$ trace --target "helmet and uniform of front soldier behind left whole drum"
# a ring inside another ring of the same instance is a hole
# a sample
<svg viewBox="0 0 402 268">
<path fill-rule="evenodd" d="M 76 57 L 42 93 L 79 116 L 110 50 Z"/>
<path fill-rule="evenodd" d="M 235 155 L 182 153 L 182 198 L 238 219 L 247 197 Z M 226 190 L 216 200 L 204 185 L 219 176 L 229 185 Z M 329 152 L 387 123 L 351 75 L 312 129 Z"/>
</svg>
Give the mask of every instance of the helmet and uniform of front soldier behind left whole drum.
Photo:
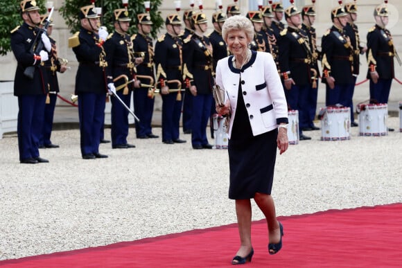
<svg viewBox="0 0 402 268">
<path fill-rule="evenodd" d="M 347 14 L 343 7 L 339 7 L 333 9 L 332 15 L 342 17 Z M 330 76 L 335 79 L 333 89 L 326 82 Z M 322 82 L 326 84 L 326 106 L 351 106 L 350 96 L 354 84 L 353 46 L 344 30 L 335 26 L 322 37 Z"/>
</svg>

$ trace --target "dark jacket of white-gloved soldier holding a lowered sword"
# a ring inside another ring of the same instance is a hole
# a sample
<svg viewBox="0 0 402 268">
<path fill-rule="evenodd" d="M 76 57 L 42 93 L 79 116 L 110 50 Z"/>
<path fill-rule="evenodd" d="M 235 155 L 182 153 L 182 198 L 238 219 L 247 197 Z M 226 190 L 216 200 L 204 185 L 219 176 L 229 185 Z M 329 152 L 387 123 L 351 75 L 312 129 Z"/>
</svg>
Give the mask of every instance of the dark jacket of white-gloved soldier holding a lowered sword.
<svg viewBox="0 0 402 268">
<path fill-rule="evenodd" d="M 76 94 L 81 92 L 106 93 L 105 51 L 98 43 L 98 35 L 81 28 L 79 44 L 73 47 L 80 65 L 76 75 Z"/>
</svg>

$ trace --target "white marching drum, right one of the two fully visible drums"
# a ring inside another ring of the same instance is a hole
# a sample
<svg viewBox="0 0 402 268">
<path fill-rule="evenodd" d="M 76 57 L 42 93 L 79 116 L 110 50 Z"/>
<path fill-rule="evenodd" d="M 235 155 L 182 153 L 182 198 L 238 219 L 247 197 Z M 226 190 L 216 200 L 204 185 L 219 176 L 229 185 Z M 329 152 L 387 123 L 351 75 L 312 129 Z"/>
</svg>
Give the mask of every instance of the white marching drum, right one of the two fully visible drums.
<svg viewBox="0 0 402 268">
<path fill-rule="evenodd" d="M 388 107 L 385 103 L 360 104 L 357 107 L 359 114 L 360 136 L 385 136 L 388 134 L 387 117 Z"/>
</svg>

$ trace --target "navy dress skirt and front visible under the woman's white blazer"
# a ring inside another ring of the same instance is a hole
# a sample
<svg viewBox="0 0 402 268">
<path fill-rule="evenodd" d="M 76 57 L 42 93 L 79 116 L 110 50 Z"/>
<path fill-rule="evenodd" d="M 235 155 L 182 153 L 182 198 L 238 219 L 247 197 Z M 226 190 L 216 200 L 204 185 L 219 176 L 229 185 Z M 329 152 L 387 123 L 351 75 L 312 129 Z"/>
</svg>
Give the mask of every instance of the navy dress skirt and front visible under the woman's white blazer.
<svg viewBox="0 0 402 268">
<path fill-rule="evenodd" d="M 240 92 L 228 146 L 229 199 L 251 199 L 255 193 L 270 195 L 277 159 L 278 129 L 253 136 Z"/>
</svg>

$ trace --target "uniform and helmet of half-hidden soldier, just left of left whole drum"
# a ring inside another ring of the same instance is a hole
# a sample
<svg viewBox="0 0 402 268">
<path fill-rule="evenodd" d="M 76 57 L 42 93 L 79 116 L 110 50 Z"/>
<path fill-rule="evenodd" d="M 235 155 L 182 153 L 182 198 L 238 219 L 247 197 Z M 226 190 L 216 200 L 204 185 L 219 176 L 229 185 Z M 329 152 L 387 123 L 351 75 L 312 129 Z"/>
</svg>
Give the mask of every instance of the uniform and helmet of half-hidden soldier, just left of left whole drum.
<svg viewBox="0 0 402 268">
<path fill-rule="evenodd" d="M 302 17 L 315 16 L 314 6 L 305 6 L 302 10 Z M 313 26 L 307 26 L 302 24 L 302 30 L 307 34 L 308 45 L 311 50 L 311 87 L 307 94 L 307 110 L 308 113 L 308 129 L 317 130 L 313 121 L 315 119 L 315 112 L 317 111 L 317 96 L 318 96 L 318 83 L 317 80 L 320 77 L 320 69 L 318 69 L 318 58 L 320 57 L 320 51 L 317 49 L 317 34 Z"/>
</svg>

